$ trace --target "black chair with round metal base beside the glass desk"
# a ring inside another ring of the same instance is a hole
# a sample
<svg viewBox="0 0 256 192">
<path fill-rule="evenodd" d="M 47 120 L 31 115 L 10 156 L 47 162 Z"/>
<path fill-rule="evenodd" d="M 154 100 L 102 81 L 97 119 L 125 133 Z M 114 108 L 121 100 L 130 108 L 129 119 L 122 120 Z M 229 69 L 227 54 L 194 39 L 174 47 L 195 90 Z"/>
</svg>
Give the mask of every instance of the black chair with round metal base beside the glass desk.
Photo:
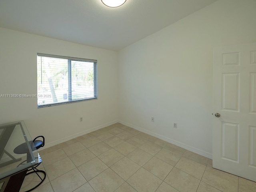
<svg viewBox="0 0 256 192">
<path fill-rule="evenodd" d="M 43 140 L 36 140 L 37 138 L 39 137 L 42 137 Z M 34 143 L 34 146 L 32 146 L 32 143 Z M 32 148 L 32 151 L 36 150 L 36 149 L 39 149 L 41 147 L 44 146 L 44 136 L 38 136 L 36 138 L 34 138 L 33 141 L 29 141 L 29 144 Z M 26 164 L 27 162 L 31 162 L 32 159 L 31 159 L 31 156 L 30 156 L 30 152 L 28 150 L 28 147 L 27 147 L 27 144 L 26 143 L 22 143 L 20 144 L 19 146 L 17 146 L 14 150 L 13 150 L 14 153 L 16 154 L 27 154 L 27 159 L 24 160 L 23 162 L 21 162 L 18 166 L 22 165 L 22 164 Z M 36 185 L 34 188 L 30 189 L 30 190 L 27 190 L 26 192 L 30 192 L 32 190 L 34 190 L 35 188 L 37 188 L 38 186 L 40 186 L 40 184 L 42 184 L 42 182 L 44 182 L 45 178 L 46 178 L 46 172 L 45 171 L 42 171 L 42 170 L 38 170 L 37 167 L 41 164 L 41 162 L 39 162 L 38 164 L 36 164 L 35 166 L 31 167 L 30 169 L 28 169 L 28 172 L 26 175 L 29 175 L 29 174 L 32 174 L 32 173 L 36 173 L 37 176 L 40 178 L 41 182 Z M 17 167 L 18 167 L 17 166 Z M 44 174 L 44 178 L 42 178 L 38 172 L 41 172 Z"/>
</svg>

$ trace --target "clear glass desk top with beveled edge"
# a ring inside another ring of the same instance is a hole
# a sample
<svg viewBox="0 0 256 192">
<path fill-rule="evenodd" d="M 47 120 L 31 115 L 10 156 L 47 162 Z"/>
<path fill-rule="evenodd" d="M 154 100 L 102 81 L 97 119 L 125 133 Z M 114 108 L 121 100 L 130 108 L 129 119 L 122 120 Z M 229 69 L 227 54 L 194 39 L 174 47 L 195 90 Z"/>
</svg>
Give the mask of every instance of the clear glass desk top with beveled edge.
<svg viewBox="0 0 256 192">
<path fill-rule="evenodd" d="M 0 180 L 41 161 L 24 121 L 0 125 Z"/>
</svg>

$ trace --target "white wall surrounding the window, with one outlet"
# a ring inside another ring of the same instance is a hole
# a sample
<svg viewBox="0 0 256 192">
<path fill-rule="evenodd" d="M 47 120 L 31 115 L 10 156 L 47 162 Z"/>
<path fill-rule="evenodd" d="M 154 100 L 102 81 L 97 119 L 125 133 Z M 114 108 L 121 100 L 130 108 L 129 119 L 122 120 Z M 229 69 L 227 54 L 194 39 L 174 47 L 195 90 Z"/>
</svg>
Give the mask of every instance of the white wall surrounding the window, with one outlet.
<svg viewBox="0 0 256 192">
<path fill-rule="evenodd" d="M 118 119 L 117 52 L 0 28 L 0 94 L 37 93 L 37 53 L 98 60 L 98 99 L 37 108 L 37 98 L 1 98 L 0 124 L 24 120 L 46 147 Z M 83 122 L 80 122 L 83 117 Z"/>
</svg>

